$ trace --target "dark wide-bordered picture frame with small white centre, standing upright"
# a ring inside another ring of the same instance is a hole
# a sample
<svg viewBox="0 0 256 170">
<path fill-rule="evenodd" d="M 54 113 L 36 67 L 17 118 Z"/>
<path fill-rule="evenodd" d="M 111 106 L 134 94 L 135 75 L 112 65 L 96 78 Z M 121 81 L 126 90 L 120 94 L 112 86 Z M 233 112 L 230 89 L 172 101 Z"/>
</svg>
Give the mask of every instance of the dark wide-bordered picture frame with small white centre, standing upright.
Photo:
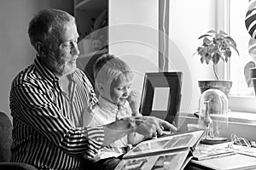
<svg viewBox="0 0 256 170">
<path fill-rule="evenodd" d="M 175 119 L 180 107 L 181 71 L 146 72 L 140 112 L 143 116 L 156 116 L 170 123 Z"/>
</svg>

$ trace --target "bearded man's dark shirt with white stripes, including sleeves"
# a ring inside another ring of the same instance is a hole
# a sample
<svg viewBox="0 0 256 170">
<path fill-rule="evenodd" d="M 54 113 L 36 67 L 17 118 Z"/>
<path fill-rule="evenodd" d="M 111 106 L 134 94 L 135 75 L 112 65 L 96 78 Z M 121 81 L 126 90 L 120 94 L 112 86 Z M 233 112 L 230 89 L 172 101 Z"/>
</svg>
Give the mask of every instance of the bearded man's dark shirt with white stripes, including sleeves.
<svg viewBox="0 0 256 170">
<path fill-rule="evenodd" d="M 15 77 L 10 91 L 13 116 L 11 161 L 38 169 L 78 169 L 82 157 L 93 158 L 102 146 L 102 127 L 82 127 L 83 111 L 97 102 L 83 71 L 69 77 L 70 95 L 38 58 Z"/>
</svg>

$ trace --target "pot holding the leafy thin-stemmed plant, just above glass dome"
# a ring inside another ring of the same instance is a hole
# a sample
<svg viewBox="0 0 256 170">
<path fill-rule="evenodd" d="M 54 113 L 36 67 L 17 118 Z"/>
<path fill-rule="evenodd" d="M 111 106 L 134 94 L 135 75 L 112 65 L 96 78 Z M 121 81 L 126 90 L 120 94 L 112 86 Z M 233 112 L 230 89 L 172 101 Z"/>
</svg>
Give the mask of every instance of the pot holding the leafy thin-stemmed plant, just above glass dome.
<svg viewBox="0 0 256 170">
<path fill-rule="evenodd" d="M 224 92 L 227 98 L 229 98 L 232 82 L 230 81 L 198 81 L 198 86 L 201 89 L 201 94 L 207 89 L 215 88 Z"/>
</svg>

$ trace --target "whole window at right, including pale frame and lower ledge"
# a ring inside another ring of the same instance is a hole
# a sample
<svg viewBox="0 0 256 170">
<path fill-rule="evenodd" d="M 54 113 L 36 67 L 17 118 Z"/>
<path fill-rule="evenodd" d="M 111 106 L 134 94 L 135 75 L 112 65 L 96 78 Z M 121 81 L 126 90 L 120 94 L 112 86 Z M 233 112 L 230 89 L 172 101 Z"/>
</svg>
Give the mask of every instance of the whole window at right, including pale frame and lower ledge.
<svg viewBox="0 0 256 170">
<path fill-rule="evenodd" d="M 224 20 L 225 31 L 229 32 L 230 37 L 235 39 L 240 53 L 238 56 L 234 51 L 230 58 L 230 65 L 224 69 L 226 77 L 229 77 L 230 81 L 233 82 L 230 90 L 230 109 L 231 111 L 256 112 L 254 89 L 248 87 L 244 76 L 244 66 L 253 60 L 247 52 L 250 35 L 245 26 L 249 1 L 226 0 L 225 2 L 224 15 L 228 16 L 226 17 L 227 20 Z"/>
</svg>

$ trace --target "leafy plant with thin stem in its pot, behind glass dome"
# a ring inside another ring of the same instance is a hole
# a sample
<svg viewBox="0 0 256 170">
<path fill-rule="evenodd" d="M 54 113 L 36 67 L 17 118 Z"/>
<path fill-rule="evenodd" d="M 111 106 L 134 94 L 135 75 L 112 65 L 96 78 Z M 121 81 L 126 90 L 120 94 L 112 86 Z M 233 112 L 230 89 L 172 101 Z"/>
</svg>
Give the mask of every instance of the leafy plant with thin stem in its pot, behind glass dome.
<svg viewBox="0 0 256 170">
<path fill-rule="evenodd" d="M 198 81 L 198 85 L 201 88 L 201 93 L 209 88 L 217 88 L 222 90 L 228 97 L 230 94 L 230 88 L 232 87 L 232 82 L 220 81 L 218 79 L 216 66 L 219 60 L 228 62 L 232 54 L 231 48 L 235 49 L 236 53 L 239 55 L 236 48 L 236 42 L 224 31 L 214 30 L 207 31 L 206 34 L 202 35 L 198 39 L 202 39 L 203 43 L 196 49 L 195 54 L 201 56 L 202 64 L 206 62 L 208 65 L 212 61 L 212 69 L 217 79 L 217 81 Z"/>
</svg>

